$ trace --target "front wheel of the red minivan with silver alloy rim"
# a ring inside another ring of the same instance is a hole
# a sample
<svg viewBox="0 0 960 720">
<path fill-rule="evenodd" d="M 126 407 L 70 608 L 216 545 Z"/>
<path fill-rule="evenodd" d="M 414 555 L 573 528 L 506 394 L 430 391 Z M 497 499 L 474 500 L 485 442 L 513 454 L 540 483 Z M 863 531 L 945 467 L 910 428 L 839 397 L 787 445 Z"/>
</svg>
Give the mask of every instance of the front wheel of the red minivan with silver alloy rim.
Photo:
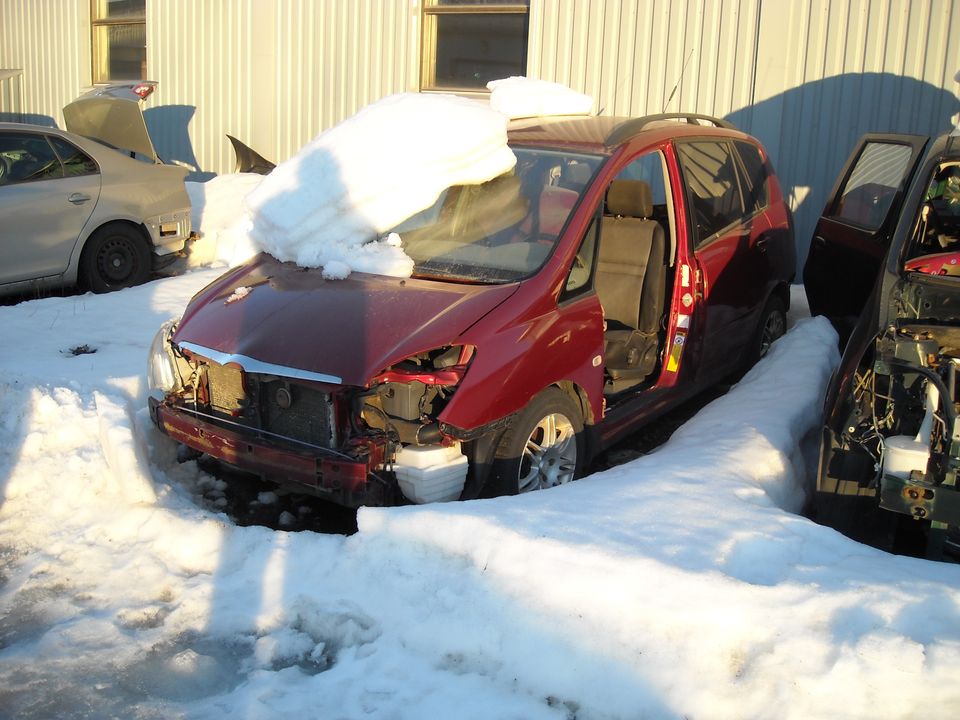
<svg viewBox="0 0 960 720">
<path fill-rule="evenodd" d="M 514 418 L 497 444 L 488 487 L 517 495 L 576 480 L 584 464 L 583 420 L 569 395 L 551 387 Z"/>
</svg>

